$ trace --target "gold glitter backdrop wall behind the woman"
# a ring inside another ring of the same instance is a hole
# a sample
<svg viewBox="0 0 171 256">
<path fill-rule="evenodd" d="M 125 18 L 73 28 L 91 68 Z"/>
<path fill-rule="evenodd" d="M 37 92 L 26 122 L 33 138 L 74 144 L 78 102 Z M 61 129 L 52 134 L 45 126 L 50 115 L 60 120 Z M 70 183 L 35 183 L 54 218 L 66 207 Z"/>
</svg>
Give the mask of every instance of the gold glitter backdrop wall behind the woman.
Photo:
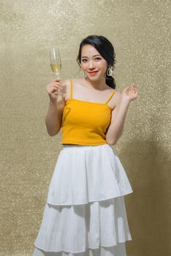
<svg viewBox="0 0 171 256">
<path fill-rule="evenodd" d="M 34 250 L 61 134 L 45 129 L 48 50 L 58 46 L 61 78 L 82 77 L 80 40 L 104 35 L 116 53 L 122 91 L 137 83 L 115 151 L 134 193 L 125 197 L 132 241 L 128 256 L 170 252 L 170 1 L 0 1 L 1 208 L 0 255 Z"/>
</svg>

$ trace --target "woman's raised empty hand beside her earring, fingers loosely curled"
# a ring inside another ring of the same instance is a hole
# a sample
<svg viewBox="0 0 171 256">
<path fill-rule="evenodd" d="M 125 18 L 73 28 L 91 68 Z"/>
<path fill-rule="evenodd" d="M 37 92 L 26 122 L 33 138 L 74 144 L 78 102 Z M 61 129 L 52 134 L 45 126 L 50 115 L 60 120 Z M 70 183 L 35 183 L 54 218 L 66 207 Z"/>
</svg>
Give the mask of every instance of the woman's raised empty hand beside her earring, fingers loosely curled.
<svg viewBox="0 0 171 256">
<path fill-rule="evenodd" d="M 137 86 L 132 83 L 132 86 L 127 86 L 123 89 L 122 93 L 122 100 L 131 102 L 134 99 L 137 99 Z"/>
</svg>

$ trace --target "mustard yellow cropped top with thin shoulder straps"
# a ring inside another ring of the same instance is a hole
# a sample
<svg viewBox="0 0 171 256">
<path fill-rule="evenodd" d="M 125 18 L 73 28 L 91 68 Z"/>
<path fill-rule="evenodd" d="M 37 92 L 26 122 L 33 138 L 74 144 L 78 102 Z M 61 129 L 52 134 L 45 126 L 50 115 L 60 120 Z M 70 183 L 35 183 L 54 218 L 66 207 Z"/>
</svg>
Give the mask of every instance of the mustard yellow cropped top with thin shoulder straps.
<svg viewBox="0 0 171 256">
<path fill-rule="evenodd" d="M 110 125 L 112 109 L 105 103 L 72 99 L 72 79 L 70 79 L 70 99 L 66 100 L 61 124 L 61 144 L 102 145 L 107 144 L 106 132 Z"/>
</svg>

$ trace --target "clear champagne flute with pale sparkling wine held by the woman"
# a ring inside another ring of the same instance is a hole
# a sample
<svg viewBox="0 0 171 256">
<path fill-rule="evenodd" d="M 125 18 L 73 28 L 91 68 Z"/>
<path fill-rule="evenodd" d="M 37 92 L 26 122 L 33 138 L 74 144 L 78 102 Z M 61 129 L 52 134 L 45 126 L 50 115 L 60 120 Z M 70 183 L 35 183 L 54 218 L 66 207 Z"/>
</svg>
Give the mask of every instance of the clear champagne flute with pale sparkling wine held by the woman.
<svg viewBox="0 0 171 256">
<path fill-rule="evenodd" d="M 50 48 L 50 67 L 55 73 L 56 78 L 59 78 L 59 72 L 61 70 L 61 56 L 58 48 Z M 63 90 L 58 89 L 55 94 L 64 94 Z"/>
</svg>

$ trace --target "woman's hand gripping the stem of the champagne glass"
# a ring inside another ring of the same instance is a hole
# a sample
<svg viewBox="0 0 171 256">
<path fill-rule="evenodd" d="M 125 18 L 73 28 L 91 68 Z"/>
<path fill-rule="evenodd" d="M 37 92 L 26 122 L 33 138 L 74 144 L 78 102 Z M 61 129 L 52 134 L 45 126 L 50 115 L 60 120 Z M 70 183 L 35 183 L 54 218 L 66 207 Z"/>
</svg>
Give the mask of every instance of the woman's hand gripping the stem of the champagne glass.
<svg viewBox="0 0 171 256">
<path fill-rule="evenodd" d="M 51 101 L 55 102 L 58 99 L 58 93 L 57 93 L 58 89 L 60 90 L 63 89 L 60 83 L 60 78 L 56 78 L 47 84 L 46 90 Z"/>
</svg>

